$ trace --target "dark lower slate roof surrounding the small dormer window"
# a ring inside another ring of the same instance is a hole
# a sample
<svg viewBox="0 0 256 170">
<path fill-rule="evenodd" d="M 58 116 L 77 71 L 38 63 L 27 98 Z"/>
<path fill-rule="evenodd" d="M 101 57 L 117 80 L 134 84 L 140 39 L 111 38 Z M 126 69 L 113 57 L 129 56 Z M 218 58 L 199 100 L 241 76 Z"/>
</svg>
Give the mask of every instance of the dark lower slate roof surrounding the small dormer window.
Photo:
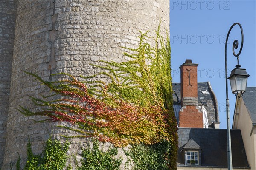
<svg viewBox="0 0 256 170">
<path fill-rule="evenodd" d="M 227 167 L 227 130 L 179 128 L 178 135 L 177 166 L 185 166 L 182 150 L 189 139 L 193 139 L 201 148 L 201 165 L 198 167 Z M 233 168 L 249 169 L 240 130 L 231 130 L 231 146 Z"/>
</svg>

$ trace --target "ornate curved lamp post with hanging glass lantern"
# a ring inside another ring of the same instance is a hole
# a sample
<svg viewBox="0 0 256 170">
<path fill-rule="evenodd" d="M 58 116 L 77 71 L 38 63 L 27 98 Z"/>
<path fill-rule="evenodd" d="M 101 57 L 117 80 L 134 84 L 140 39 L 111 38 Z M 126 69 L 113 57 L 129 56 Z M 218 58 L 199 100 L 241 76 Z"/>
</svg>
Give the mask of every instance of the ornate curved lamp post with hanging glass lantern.
<svg viewBox="0 0 256 170">
<path fill-rule="evenodd" d="M 238 48 L 238 40 L 235 40 L 233 42 L 233 55 L 237 57 L 237 65 L 236 68 L 234 68 L 231 71 L 230 77 L 227 78 L 227 40 L 230 34 L 231 29 L 235 25 L 239 25 L 241 29 L 241 34 L 242 34 L 242 42 L 241 42 L 241 48 L 238 52 L 238 54 L 235 54 L 235 49 Z M 234 23 L 228 33 L 227 33 L 227 38 L 226 38 L 226 44 L 225 44 L 225 74 L 226 74 L 226 111 L 227 111 L 227 165 L 228 165 L 228 170 L 232 170 L 232 153 L 231 153 L 231 138 L 230 138 L 230 111 L 229 111 L 229 99 L 228 99 L 228 88 L 227 88 L 227 79 L 230 79 L 230 85 L 231 85 L 231 90 L 232 93 L 235 94 L 236 97 L 240 98 L 243 96 L 246 85 L 247 85 L 247 78 L 250 76 L 247 74 L 245 69 L 241 68 L 241 65 L 239 65 L 239 55 L 242 51 L 244 44 L 244 33 L 243 33 L 243 28 L 240 23 Z"/>
</svg>

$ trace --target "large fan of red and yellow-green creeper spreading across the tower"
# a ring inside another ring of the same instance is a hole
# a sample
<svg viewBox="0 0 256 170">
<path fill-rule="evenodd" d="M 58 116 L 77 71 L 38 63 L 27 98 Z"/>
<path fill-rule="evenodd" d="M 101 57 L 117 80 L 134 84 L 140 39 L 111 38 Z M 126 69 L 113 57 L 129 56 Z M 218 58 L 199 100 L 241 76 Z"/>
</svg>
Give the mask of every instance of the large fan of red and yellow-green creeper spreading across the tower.
<svg viewBox="0 0 256 170">
<path fill-rule="evenodd" d="M 30 97 L 41 111 L 20 107 L 20 113 L 49 118 L 39 122 L 70 122 L 76 128 L 64 128 L 79 134 L 65 137 L 93 137 L 116 147 L 168 142 L 171 149 L 167 156 L 168 166 L 175 169 L 177 124 L 172 108 L 170 41 L 160 35 L 160 25 L 155 34 L 149 37 L 148 32 L 140 32 L 137 48 L 122 47 L 131 51 L 123 54 L 127 61 L 101 60 L 99 65 L 93 66 L 102 72 L 80 76 L 80 80 L 60 73 L 52 76 L 64 76 L 64 79 L 46 81 L 25 71 L 50 88 L 53 94 Z M 153 42 L 153 46 L 148 41 Z M 99 75 L 108 77 L 110 82 L 97 79 Z M 91 81 L 92 78 L 95 80 Z"/>
</svg>

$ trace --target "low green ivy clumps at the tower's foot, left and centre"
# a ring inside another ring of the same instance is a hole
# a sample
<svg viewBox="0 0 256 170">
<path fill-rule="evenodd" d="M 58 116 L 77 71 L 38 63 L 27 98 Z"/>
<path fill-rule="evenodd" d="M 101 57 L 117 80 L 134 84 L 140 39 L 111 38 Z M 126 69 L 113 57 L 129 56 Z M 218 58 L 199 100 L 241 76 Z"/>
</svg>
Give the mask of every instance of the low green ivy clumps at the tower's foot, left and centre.
<svg viewBox="0 0 256 170">
<path fill-rule="evenodd" d="M 56 139 L 49 138 L 46 142 L 44 151 L 35 155 L 31 149 L 31 142 L 27 144 L 27 161 L 23 170 L 64 170 L 67 164 L 67 155 L 69 143 L 61 144 Z M 81 166 L 73 155 L 75 167 L 77 170 L 119 170 L 122 162 L 121 158 L 116 158 L 117 148 L 109 147 L 106 152 L 99 149 L 99 141 L 93 140 L 92 149 L 87 147 L 82 151 L 80 160 Z M 20 170 L 20 155 L 16 163 L 16 170 Z M 65 168 L 72 170 L 71 164 Z"/>
</svg>

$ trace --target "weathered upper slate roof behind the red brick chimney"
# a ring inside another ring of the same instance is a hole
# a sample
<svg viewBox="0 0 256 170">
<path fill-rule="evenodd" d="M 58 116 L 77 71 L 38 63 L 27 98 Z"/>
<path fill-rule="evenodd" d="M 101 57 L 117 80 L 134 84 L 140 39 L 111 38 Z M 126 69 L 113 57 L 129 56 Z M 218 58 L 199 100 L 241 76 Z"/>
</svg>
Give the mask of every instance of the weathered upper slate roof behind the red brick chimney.
<svg viewBox="0 0 256 170">
<path fill-rule="evenodd" d="M 173 105 L 180 105 L 180 83 L 172 83 L 172 90 Z M 213 127 L 213 122 L 219 122 L 219 116 L 217 98 L 212 91 L 210 82 L 198 82 L 198 105 L 202 105 L 202 102 L 207 102 L 205 108 L 207 110 L 209 127 Z"/>
</svg>

